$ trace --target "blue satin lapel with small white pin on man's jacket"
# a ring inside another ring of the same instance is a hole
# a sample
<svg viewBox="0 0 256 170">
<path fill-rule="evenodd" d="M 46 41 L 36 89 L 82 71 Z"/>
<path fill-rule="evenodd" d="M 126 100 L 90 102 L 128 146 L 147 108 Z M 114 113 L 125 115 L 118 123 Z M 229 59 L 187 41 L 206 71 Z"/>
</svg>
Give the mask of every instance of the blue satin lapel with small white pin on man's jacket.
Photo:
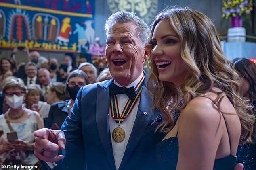
<svg viewBox="0 0 256 170">
<path fill-rule="evenodd" d="M 132 154 L 134 148 L 136 147 L 138 142 L 141 140 L 141 137 L 145 132 L 145 129 L 151 119 L 151 115 L 152 115 L 152 112 L 150 110 L 151 102 L 149 102 L 149 95 L 148 95 L 147 87 L 145 86 L 147 84 L 147 80 L 146 81 L 145 80 L 144 80 L 144 86 L 141 92 L 141 99 L 138 107 L 138 112 L 132 128 L 132 133 L 130 135 L 128 144 L 126 146 L 124 157 L 120 164 L 119 170 L 122 169 L 122 167 L 128 160 L 129 156 Z M 147 112 L 147 115 L 144 115 L 143 114 L 144 112 Z"/>
</svg>

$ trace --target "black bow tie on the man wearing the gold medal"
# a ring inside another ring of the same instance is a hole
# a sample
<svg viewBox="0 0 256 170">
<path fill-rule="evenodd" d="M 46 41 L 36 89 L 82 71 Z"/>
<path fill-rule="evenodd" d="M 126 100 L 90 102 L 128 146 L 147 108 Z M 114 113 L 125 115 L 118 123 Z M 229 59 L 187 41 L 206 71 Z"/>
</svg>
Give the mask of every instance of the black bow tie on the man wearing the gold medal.
<svg viewBox="0 0 256 170">
<path fill-rule="evenodd" d="M 115 96 L 116 94 L 126 94 L 128 98 L 131 100 L 135 99 L 136 92 L 134 87 L 126 88 L 126 87 L 119 87 L 115 85 L 115 83 L 111 82 L 109 85 L 109 96 Z"/>
</svg>

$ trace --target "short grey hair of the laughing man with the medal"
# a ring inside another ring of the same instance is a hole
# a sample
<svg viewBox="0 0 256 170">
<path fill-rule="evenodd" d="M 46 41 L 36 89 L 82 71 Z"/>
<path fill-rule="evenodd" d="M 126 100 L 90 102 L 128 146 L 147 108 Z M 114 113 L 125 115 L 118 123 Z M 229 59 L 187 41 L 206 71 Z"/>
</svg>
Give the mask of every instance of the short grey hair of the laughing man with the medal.
<svg viewBox="0 0 256 170">
<path fill-rule="evenodd" d="M 109 29 L 115 24 L 115 23 L 134 23 L 136 25 L 136 30 L 139 39 L 141 40 L 141 44 L 143 46 L 147 45 L 149 42 L 149 26 L 138 16 L 136 16 L 132 12 L 126 12 L 126 11 L 119 11 L 115 12 L 106 21 L 105 24 L 105 31 L 106 35 L 108 36 Z"/>
</svg>

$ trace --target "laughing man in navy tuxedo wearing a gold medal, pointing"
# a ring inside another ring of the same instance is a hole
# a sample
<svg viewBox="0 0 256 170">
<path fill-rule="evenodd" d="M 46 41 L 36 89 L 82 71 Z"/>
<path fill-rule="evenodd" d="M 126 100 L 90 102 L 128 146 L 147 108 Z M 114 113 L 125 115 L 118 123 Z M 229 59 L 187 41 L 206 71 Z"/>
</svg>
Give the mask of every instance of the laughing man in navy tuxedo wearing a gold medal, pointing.
<svg viewBox="0 0 256 170">
<path fill-rule="evenodd" d="M 60 160 L 58 166 L 48 165 L 61 170 L 84 170 L 85 160 L 88 170 L 159 169 L 155 147 L 163 134 L 155 133 L 155 128 L 161 119 L 157 110 L 151 110 L 143 72 L 149 28 L 134 14 L 117 12 L 109 17 L 105 30 L 113 79 L 80 88 L 61 127 L 65 137 L 62 131 L 37 131 L 35 155 L 46 162 Z"/>
</svg>

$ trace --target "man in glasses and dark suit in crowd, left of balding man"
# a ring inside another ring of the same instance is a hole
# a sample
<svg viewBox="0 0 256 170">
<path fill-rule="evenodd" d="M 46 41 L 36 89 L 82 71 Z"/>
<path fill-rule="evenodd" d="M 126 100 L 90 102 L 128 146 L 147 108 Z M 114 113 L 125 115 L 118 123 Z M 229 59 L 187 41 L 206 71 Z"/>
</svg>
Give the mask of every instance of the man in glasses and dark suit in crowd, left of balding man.
<svg viewBox="0 0 256 170">
<path fill-rule="evenodd" d="M 25 85 L 40 84 L 40 81 L 37 77 L 37 68 L 36 68 L 35 63 L 28 62 L 25 65 L 25 74 L 26 74 L 26 77 L 23 78 L 23 81 L 24 81 Z"/>
</svg>

